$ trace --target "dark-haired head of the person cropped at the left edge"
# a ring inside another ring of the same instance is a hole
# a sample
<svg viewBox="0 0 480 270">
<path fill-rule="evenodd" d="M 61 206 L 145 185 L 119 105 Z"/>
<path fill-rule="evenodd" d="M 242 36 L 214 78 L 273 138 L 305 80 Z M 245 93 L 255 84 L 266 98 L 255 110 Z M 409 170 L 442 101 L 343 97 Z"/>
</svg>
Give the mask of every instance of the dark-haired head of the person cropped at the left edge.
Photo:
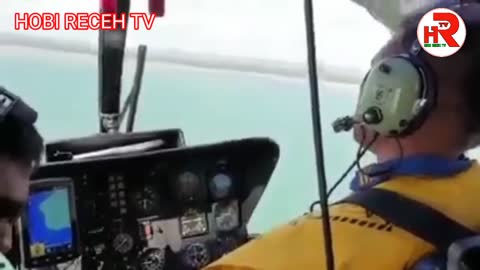
<svg viewBox="0 0 480 270">
<path fill-rule="evenodd" d="M 29 179 L 43 152 L 32 124 L 7 116 L 0 121 L 0 252 L 12 243 L 12 226 L 28 198 Z"/>
</svg>

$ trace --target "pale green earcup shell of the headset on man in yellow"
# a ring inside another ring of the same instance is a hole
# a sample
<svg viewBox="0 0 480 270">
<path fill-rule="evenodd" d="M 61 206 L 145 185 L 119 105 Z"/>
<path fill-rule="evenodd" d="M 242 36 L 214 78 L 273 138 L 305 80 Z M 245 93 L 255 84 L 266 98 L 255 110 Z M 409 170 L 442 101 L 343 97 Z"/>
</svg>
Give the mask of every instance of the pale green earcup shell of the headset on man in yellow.
<svg viewBox="0 0 480 270">
<path fill-rule="evenodd" d="M 376 63 L 360 89 L 355 118 L 385 136 L 404 134 L 426 106 L 425 80 L 407 57 Z"/>
</svg>

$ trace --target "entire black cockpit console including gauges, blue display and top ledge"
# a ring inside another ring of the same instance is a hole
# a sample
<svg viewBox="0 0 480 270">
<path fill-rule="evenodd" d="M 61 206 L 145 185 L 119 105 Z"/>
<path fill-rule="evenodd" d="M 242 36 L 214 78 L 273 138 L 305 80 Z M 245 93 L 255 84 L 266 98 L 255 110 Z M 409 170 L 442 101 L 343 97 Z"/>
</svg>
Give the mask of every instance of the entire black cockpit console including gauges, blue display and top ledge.
<svg viewBox="0 0 480 270">
<path fill-rule="evenodd" d="M 248 241 L 246 224 L 278 158 L 274 142 L 184 146 L 178 130 L 128 135 L 48 145 L 47 153 L 75 154 L 33 178 L 21 219 L 25 267 L 200 269 Z M 157 140 L 163 149 L 82 153 Z"/>
</svg>

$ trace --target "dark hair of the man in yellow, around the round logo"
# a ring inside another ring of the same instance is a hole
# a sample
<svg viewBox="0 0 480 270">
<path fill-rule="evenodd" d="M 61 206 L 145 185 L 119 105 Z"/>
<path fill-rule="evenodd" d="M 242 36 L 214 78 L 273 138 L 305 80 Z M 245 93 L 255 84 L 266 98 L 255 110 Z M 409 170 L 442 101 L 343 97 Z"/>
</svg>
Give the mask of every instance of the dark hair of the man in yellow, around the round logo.
<svg viewBox="0 0 480 270">
<path fill-rule="evenodd" d="M 434 7 L 420 10 L 410 16 L 408 16 L 402 23 L 401 45 L 403 48 L 408 49 L 417 39 L 417 26 L 423 15 L 434 8 L 448 8 L 452 4 L 452 1 L 441 1 Z M 457 13 L 464 19 L 467 36 L 463 47 L 450 57 L 437 58 L 429 56 L 426 53 L 420 55 L 421 58 L 433 60 L 440 63 L 440 65 L 446 66 L 450 71 L 460 70 L 461 81 L 458 82 L 457 89 L 464 93 L 465 105 L 469 112 L 469 126 L 468 131 L 472 133 L 480 132 L 480 4 L 475 7 L 464 7 L 457 10 Z M 470 9 L 470 10 L 469 10 Z M 470 14 L 467 14 L 470 11 Z M 476 14 L 474 14 L 476 13 Z M 458 59 L 462 59 L 462 63 L 465 65 L 462 68 L 455 68 L 455 63 Z M 437 78 L 438 79 L 438 78 Z"/>
</svg>

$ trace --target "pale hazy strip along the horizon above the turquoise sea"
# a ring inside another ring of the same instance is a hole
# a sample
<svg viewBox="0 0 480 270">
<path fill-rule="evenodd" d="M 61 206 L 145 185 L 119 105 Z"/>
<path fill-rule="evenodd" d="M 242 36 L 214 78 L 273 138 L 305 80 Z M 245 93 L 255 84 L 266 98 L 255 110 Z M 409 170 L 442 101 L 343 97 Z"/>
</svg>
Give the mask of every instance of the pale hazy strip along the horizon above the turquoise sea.
<svg viewBox="0 0 480 270">
<path fill-rule="evenodd" d="M 58 40 L 50 37 L 33 37 L 28 34 L 0 32 L 0 46 L 43 49 L 65 53 L 98 55 L 98 45 L 84 40 Z M 148 48 L 148 44 L 147 44 Z M 306 78 L 307 63 L 273 59 L 226 56 L 212 53 L 193 53 L 179 49 L 149 49 L 147 59 L 152 62 L 169 63 L 204 69 L 231 70 L 288 78 Z M 137 48 L 127 46 L 124 59 L 135 59 Z M 358 84 L 364 73 L 357 68 L 339 67 L 317 61 L 318 76 L 326 82 Z"/>
</svg>

